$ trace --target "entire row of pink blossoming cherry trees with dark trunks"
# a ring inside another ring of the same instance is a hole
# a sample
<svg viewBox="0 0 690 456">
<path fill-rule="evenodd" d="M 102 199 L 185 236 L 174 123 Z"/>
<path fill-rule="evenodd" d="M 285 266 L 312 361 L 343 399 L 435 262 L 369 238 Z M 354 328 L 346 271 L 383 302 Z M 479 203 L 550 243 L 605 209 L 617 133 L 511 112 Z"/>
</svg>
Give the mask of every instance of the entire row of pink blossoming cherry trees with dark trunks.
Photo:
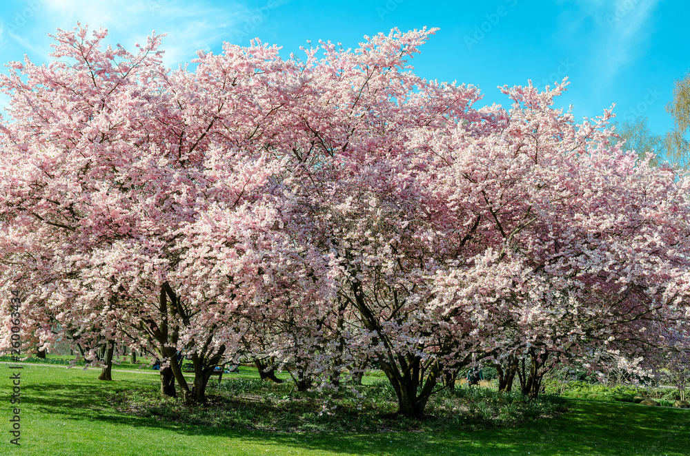
<svg viewBox="0 0 690 456">
<path fill-rule="evenodd" d="M 611 112 L 555 109 L 564 84 L 504 87 L 505 110 L 415 76 L 434 31 L 304 60 L 226 43 L 191 71 L 79 25 L 11 63 L 0 287 L 23 333 L 155 351 L 162 392 L 197 401 L 239 354 L 300 389 L 368 360 L 407 416 L 480 361 L 534 397 L 553 366 L 687 359 L 688 178 L 612 143 Z"/>
</svg>

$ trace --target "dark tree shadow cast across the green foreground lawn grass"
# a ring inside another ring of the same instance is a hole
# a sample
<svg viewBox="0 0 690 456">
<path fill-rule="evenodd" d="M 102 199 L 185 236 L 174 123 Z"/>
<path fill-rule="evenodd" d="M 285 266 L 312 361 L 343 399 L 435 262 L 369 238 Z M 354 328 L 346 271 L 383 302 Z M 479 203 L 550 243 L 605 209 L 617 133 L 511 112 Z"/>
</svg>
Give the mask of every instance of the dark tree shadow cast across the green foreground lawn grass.
<svg viewBox="0 0 690 456">
<path fill-rule="evenodd" d="M 400 454 L 403 450 L 411 454 L 446 455 L 685 455 L 690 448 L 690 411 L 636 404 L 569 399 L 568 413 L 514 428 L 458 429 L 446 433 L 268 433 L 246 428 L 185 425 L 119 413 L 112 408 L 109 398 L 119 392 L 141 391 L 141 382 L 120 380 L 108 384 L 109 388 L 104 386 L 95 382 L 42 382 L 28 385 L 23 391 L 28 397 L 27 404 L 32 404 L 37 411 L 67 419 L 358 455 Z"/>
</svg>

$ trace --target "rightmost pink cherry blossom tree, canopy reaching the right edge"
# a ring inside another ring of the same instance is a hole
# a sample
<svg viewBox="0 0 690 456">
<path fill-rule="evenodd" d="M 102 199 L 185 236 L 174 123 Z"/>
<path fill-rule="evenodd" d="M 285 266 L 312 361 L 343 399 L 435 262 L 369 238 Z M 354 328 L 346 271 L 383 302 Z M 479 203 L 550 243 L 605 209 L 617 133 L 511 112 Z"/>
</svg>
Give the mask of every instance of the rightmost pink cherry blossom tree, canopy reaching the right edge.
<svg viewBox="0 0 690 456">
<path fill-rule="evenodd" d="M 533 397 L 553 362 L 634 357 L 660 336 L 645 329 L 687 324 L 687 180 L 609 144 L 608 112 L 575 125 L 553 109 L 563 89 L 504 87 L 506 128 L 446 152 L 453 212 L 491 250 L 442 272 L 435 300 L 474 315 L 512 373 L 526 357 Z"/>
</svg>

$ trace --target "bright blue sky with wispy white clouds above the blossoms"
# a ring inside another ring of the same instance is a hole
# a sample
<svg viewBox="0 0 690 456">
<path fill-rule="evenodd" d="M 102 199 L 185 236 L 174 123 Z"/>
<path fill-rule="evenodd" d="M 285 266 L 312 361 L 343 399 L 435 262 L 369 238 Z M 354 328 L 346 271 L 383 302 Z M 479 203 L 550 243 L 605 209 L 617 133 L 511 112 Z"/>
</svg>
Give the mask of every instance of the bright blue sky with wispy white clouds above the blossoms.
<svg viewBox="0 0 690 456">
<path fill-rule="evenodd" d="M 617 120 L 642 115 L 653 132 L 673 123 L 665 107 L 673 82 L 690 69 L 690 2 L 681 0 L 0 0 L 0 61 L 50 61 L 49 33 L 77 21 L 103 26 L 128 49 L 165 32 L 165 62 L 177 67 L 198 49 L 259 37 L 299 53 L 307 40 L 355 48 L 391 28 L 438 27 L 413 59 L 427 79 L 479 86 L 484 103 L 508 101 L 499 85 L 543 87 L 569 76 L 561 97 L 575 117 L 615 103 Z M 0 99 L 0 105 L 6 99 Z M 507 106 L 506 106 L 507 107 Z"/>
</svg>

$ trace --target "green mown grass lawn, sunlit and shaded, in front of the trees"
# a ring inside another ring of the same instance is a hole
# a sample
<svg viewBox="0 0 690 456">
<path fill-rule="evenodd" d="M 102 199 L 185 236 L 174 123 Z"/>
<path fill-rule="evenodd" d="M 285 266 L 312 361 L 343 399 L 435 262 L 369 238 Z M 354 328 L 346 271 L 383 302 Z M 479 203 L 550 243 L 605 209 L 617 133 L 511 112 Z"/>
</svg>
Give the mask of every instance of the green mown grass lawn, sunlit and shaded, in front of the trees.
<svg viewBox="0 0 690 456">
<path fill-rule="evenodd" d="M 570 411 L 558 417 L 480 431 L 268 433 L 177 424 L 120 413 L 110 403 L 117 393 L 155 388 L 155 375 L 114 372 L 113 382 L 100 382 L 97 371 L 50 366 L 21 371 L 17 448 L 9 443 L 8 364 L 0 371 L 0 455 L 618 456 L 687 455 L 690 448 L 688 410 L 578 399 L 568 399 Z"/>
</svg>

